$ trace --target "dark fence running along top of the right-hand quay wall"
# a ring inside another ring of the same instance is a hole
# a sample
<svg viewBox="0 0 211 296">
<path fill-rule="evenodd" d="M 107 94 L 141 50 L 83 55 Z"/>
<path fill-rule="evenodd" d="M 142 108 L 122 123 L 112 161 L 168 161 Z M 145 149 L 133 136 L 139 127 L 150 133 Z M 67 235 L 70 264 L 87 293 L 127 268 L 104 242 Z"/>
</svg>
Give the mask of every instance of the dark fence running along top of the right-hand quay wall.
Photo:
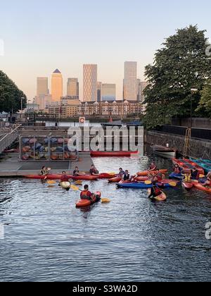
<svg viewBox="0 0 211 296">
<path fill-rule="evenodd" d="M 187 128 L 185 127 L 176 125 L 162 125 L 160 128 L 156 128 L 155 131 L 166 132 L 168 134 L 181 135 L 185 137 L 186 129 Z M 211 140 L 211 129 L 192 128 L 191 137 L 201 140 Z"/>
</svg>

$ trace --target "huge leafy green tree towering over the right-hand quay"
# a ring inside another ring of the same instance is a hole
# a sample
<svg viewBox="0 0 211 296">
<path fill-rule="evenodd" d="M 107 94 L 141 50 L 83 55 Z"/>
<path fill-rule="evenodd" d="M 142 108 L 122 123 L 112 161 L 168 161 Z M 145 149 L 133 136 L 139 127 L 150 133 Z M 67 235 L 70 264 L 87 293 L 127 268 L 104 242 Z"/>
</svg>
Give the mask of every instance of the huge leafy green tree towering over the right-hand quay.
<svg viewBox="0 0 211 296">
<path fill-rule="evenodd" d="M 144 121 L 148 128 L 170 123 L 174 117 L 190 116 L 191 101 L 193 111 L 198 107 L 200 91 L 211 77 L 205 32 L 193 25 L 177 30 L 156 52 L 153 65 L 146 66 L 149 85 L 144 91 Z M 198 92 L 191 94 L 191 88 Z"/>
</svg>

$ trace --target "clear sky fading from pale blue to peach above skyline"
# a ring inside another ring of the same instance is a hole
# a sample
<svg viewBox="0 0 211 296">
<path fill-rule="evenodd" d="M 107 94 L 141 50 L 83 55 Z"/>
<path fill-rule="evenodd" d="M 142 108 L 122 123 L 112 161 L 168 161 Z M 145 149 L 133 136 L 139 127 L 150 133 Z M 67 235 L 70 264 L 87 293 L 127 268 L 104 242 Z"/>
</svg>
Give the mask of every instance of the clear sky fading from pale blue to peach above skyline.
<svg viewBox="0 0 211 296">
<path fill-rule="evenodd" d="M 66 82 L 83 63 L 98 64 L 98 81 L 116 83 L 122 99 L 124 61 L 138 62 L 138 76 L 178 28 L 196 25 L 211 37 L 210 0 L 0 0 L 0 70 L 27 94 L 37 77 L 58 68 Z M 3 52 L 4 44 L 4 52 Z"/>
</svg>

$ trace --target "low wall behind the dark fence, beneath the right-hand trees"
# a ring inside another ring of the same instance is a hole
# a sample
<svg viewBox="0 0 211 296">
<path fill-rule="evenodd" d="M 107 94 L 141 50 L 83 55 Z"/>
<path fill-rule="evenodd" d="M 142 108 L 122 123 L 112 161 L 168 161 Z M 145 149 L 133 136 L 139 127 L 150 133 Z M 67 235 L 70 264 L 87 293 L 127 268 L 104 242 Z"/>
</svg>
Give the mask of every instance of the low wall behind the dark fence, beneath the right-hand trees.
<svg viewBox="0 0 211 296">
<path fill-rule="evenodd" d="M 172 125 L 180 125 L 185 127 L 191 126 L 191 118 L 183 119 L 172 119 Z M 192 118 L 193 128 L 210 128 L 211 129 L 211 119 L 210 118 Z"/>
</svg>

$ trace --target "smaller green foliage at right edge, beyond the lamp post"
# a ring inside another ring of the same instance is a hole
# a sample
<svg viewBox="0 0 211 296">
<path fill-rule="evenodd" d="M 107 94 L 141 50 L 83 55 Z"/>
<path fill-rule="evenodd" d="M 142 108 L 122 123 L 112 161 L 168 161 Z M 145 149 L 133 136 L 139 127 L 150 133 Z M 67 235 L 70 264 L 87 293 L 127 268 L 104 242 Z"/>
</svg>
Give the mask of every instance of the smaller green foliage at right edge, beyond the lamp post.
<svg viewBox="0 0 211 296">
<path fill-rule="evenodd" d="M 201 91 L 201 98 L 198 106 L 198 111 L 205 110 L 207 116 L 211 118 L 211 79 L 207 80 L 203 90 Z"/>
</svg>

